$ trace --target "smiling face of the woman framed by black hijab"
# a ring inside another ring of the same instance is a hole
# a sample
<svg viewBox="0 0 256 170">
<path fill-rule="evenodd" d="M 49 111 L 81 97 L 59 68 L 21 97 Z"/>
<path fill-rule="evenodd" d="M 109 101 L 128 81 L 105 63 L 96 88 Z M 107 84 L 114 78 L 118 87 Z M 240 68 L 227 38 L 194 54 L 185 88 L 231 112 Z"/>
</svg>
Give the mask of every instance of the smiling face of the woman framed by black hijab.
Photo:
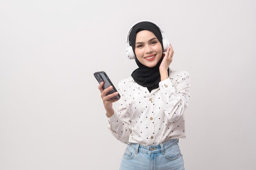
<svg viewBox="0 0 256 170">
<path fill-rule="evenodd" d="M 136 34 L 135 54 L 141 64 L 154 67 L 162 57 L 162 45 L 154 33 L 143 30 Z"/>
</svg>

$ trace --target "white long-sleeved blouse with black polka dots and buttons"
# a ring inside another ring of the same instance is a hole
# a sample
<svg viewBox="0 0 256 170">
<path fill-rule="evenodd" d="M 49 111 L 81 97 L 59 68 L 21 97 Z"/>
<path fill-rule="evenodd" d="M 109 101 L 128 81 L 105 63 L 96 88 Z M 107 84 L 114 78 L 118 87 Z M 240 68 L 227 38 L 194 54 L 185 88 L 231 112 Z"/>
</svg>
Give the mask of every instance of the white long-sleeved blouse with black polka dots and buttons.
<svg viewBox="0 0 256 170">
<path fill-rule="evenodd" d="M 149 93 L 132 77 L 119 82 L 121 99 L 113 103 L 114 115 L 107 117 L 108 129 L 124 144 L 151 146 L 168 139 L 186 138 L 184 113 L 189 106 L 190 77 L 173 71 Z"/>
</svg>

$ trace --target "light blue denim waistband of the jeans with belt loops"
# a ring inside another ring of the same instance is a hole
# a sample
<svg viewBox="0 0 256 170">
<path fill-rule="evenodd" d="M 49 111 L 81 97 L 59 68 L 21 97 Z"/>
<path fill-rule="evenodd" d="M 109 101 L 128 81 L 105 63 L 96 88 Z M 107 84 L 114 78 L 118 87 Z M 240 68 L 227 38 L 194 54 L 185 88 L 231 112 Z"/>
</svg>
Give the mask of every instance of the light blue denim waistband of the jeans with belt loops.
<svg viewBox="0 0 256 170">
<path fill-rule="evenodd" d="M 178 142 L 178 139 L 169 139 L 168 141 L 164 141 L 161 144 L 158 145 L 151 145 L 146 146 L 139 143 L 130 143 L 128 144 L 128 148 L 133 148 L 135 150 L 135 153 L 138 154 L 138 152 L 153 154 L 156 152 L 162 152 L 162 155 L 164 155 L 164 150 L 170 148 L 171 146 L 175 145 Z"/>
</svg>

